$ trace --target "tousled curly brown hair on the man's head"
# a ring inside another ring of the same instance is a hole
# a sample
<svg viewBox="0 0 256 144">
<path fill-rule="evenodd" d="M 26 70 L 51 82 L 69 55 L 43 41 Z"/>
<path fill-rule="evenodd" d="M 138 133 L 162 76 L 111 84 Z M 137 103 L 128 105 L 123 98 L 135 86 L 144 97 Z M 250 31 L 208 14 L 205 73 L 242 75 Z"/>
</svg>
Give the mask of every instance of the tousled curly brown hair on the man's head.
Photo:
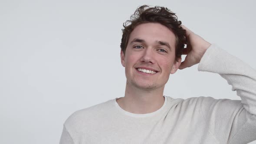
<svg viewBox="0 0 256 144">
<path fill-rule="evenodd" d="M 120 47 L 124 54 L 131 32 L 136 26 L 142 23 L 160 23 L 169 28 L 176 37 L 175 60 L 181 57 L 186 40 L 185 30 L 181 27 L 181 21 L 178 21 L 175 13 L 171 12 L 171 10 L 166 7 L 149 7 L 148 5 L 139 7 L 135 10 L 135 13 L 131 15 L 131 20 L 127 20 L 123 23 L 124 29 L 122 29 L 123 35 Z"/>
</svg>

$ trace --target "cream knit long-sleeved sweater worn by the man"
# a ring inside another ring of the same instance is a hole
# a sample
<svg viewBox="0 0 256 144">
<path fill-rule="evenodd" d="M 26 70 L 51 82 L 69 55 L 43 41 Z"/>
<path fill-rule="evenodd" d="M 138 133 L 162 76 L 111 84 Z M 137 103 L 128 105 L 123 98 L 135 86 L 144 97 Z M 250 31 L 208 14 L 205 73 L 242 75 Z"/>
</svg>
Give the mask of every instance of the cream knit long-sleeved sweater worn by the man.
<svg viewBox="0 0 256 144">
<path fill-rule="evenodd" d="M 241 100 L 164 96 L 164 105 L 157 111 L 133 114 L 115 98 L 69 116 L 60 144 L 246 144 L 256 140 L 256 71 L 214 44 L 198 70 L 220 74 Z"/>
</svg>

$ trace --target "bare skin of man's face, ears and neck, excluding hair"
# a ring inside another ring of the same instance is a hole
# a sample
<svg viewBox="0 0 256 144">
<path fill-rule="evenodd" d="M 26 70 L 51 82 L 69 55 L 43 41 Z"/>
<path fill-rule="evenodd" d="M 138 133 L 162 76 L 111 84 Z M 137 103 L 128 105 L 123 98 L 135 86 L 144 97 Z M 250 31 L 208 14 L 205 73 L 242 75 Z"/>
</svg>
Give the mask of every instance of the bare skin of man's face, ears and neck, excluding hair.
<svg viewBox="0 0 256 144">
<path fill-rule="evenodd" d="M 160 23 L 143 23 L 131 32 L 125 52 L 121 50 L 125 97 L 117 100 L 125 111 L 146 114 L 164 104 L 164 85 L 181 64 L 181 58 L 175 59 L 175 39 Z"/>
</svg>

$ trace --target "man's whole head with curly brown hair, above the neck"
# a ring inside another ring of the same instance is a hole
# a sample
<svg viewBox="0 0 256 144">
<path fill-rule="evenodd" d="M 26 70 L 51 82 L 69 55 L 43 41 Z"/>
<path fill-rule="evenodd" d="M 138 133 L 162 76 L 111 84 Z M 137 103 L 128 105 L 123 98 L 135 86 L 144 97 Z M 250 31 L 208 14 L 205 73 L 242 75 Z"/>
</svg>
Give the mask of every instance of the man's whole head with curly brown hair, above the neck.
<svg viewBox="0 0 256 144">
<path fill-rule="evenodd" d="M 123 30 L 121 63 L 128 85 L 150 90 L 164 88 L 181 64 L 184 30 L 166 8 L 146 8 L 138 8 Z"/>
</svg>

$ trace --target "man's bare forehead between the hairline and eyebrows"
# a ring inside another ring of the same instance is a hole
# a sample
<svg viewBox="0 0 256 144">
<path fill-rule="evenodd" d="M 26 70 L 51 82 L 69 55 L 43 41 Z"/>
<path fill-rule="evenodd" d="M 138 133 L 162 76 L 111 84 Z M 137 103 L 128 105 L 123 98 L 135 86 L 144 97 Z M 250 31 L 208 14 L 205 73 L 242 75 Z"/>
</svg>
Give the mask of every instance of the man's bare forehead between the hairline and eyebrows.
<svg viewBox="0 0 256 144">
<path fill-rule="evenodd" d="M 153 43 L 155 41 L 164 41 L 175 47 L 175 35 L 166 26 L 160 23 L 143 23 L 135 27 L 131 32 L 128 43 L 132 39 L 144 39 L 146 43 Z"/>
</svg>

